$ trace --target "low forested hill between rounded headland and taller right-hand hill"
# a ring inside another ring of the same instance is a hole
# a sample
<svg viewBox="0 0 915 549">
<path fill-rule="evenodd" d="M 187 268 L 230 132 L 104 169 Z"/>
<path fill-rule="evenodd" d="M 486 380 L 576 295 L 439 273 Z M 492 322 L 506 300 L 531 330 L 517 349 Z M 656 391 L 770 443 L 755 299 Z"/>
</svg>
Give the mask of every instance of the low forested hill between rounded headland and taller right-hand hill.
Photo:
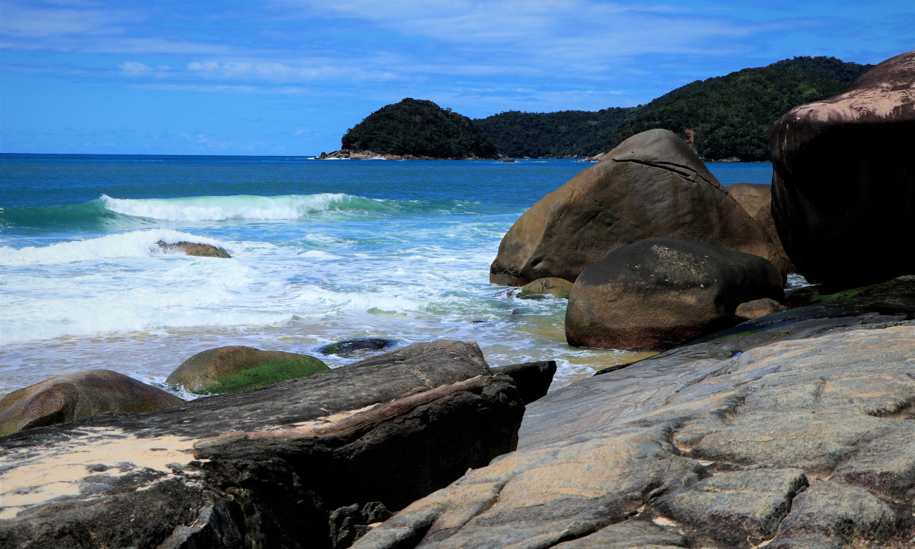
<svg viewBox="0 0 915 549">
<path fill-rule="evenodd" d="M 475 120 L 474 124 L 505 156 L 591 156 L 605 149 L 609 136 L 630 111 L 619 107 L 597 113 L 509 111 Z"/>
</svg>

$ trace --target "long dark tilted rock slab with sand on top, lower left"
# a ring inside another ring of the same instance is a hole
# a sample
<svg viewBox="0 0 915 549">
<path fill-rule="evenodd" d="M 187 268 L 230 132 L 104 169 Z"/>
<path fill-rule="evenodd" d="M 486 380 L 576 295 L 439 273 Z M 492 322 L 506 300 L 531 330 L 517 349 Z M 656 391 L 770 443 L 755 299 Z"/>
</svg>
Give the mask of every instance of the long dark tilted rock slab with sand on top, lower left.
<svg viewBox="0 0 915 549">
<path fill-rule="evenodd" d="M 0 545 L 331 547 L 333 511 L 397 511 L 485 466 L 515 447 L 523 409 L 475 344 L 438 341 L 18 433 L 0 439 Z M 337 541 L 358 526 L 334 524 Z"/>
</svg>

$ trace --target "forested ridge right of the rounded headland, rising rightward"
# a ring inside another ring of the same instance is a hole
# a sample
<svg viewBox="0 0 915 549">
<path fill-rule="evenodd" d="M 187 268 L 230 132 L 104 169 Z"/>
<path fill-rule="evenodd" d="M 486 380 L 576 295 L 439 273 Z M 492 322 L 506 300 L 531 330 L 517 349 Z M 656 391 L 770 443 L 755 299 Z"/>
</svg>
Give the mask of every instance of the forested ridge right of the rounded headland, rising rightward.
<svg viewBox="0 0 915 549">
<path fill-rule="evenodd" d="M 796 57 L 694 81 L 631 109 L 512 111 L 474 123 L 506 156 L 594 156 L 630 135 L 665 128 L 707 159 L 768 160 L 767 133 L 781 114 L 845 91 L 870 68 L 835 58 Z"/>
</svg>

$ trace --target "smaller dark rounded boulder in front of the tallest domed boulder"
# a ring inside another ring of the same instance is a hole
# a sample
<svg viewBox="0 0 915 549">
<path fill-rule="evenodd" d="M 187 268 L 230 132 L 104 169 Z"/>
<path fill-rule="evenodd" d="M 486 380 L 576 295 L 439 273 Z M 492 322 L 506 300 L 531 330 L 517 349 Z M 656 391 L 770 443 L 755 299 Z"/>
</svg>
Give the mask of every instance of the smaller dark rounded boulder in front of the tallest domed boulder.
<svg viewBox="0 0 915 549">
<path fill-rule="evenodd" d="M 758 255 L 651 238 L 582 271 L 565 310 L 565 338 L 576 347 L 668 349 L 735 323 L 745 301 L 783 296 L 778 269 Z"/>
</svg>

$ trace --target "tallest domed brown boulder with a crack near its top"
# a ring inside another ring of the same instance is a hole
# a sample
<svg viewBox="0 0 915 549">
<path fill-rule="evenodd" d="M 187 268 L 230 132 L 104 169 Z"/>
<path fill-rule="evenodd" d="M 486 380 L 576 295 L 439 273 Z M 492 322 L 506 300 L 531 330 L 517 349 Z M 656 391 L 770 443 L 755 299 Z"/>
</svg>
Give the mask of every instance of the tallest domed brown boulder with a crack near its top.
<svg viewBox="0 0 915 549">
<path fill-rule="evenodd" d="M 556 276 L 575 282 L 589 264 L 655 236 L 688 238 L 773 263 L 766 231 L 731 198 L 672 132 L 633 135 L 524 212 L 502 238 L 490 282 L 525 285 Z"/>
</svg>

